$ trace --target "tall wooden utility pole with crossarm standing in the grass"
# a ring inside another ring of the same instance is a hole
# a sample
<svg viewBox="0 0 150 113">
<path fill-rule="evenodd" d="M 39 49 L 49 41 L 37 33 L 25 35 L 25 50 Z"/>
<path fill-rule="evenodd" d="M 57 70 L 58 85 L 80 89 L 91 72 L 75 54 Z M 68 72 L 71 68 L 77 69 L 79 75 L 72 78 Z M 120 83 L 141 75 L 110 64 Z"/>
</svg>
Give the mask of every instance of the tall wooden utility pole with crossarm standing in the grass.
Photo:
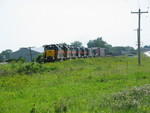
<svg viewBox="0 0 150 113">
<path fill-rule="evenodd" d="M 141 14 L 142 13 L 148 13 L 148 11 L 143 11 L 143 12 L 141 12 L 141 9 L 139 9 L 139 11 L 138 12 L 131 12 L 132 14 L 138 14 L 138 18 L 139 18 L 139 20 L 138 20 L 138 29 L 137 29 L 137 31 L 138 31 L 138 64 L 139 65 L 141 65 L 141 47 L 140 47 L 140 29 L 141 29 Z"/>
</svg>

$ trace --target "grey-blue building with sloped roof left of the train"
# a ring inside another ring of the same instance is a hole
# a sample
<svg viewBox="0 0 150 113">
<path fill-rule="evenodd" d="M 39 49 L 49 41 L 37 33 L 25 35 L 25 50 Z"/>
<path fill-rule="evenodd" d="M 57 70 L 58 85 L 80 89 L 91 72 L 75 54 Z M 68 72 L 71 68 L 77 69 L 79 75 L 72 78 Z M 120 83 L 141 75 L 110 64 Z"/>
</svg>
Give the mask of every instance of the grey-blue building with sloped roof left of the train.
<svg viewBox="0 0 150 113">
<path fill-rule="evenodd" d="M 23 57 L 27 62 L 31 62 L 31 58 L 36 58 L 40 52 L 31 50 L 29 48 L 20 48 L 18 51 L 10 54 L 10 58 L 18 59 L 19 57 Z"/>
</svg>

